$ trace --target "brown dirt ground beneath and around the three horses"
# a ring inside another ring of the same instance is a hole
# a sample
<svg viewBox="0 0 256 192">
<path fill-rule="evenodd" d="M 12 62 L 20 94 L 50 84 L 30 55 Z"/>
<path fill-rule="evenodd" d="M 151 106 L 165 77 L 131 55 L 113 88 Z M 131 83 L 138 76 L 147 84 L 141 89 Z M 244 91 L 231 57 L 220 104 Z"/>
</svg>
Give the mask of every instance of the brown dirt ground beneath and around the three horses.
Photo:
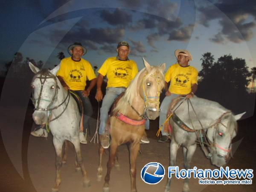
<svg viewBox="0 0 256 192">
<path fill-rule="evenodd" d="M 52 144 L 52 136 L 49 134 L 45 138 L 30 136 L 30 131 L 34 127 L 32 118 L 32 109 L 28 108 L 25 117 L 23 138 L 22 138 L 22 168 L 24 179 L 19 175 L 10 161 L 5 149 L 2 137 L 0 140 L 1 166 L 0 166 L 0 191 L 4 192 L 49 192 L 55 181 L 55 150 Z M 94 114 L 96 116 L 96 114 Z M 4 119 L 4 117 L 2 117 Z M 5 119 L 6 120 L 6 119 Z M 158 120 L 158 119 L 157 119 Z M 151 121 L 150 130 L 147 131 L 150 143 L 141 145 L 141 154 L 137 158 L 137 189 L 138 192 L 163 192 L 167 176 L 156 185 L 148 185 L 140 178 L 140 171 L 143 166 L 149 162 L 161 163 L 166 171 L 169 166 L 169 143 L 157 143 L 157 120 Z M 96 120 L 91 123 L 90 141 L 96 126 Z M 239 134 L 233 142 L 241 141 L 234 158 L 230 160 L 227 166 L 230 169 L 255 169 L 255 129 L 256 116 L 239 121 Z M 242 140 L 241 140 L 242 139 Z M 10 138 L 12 140 L 12 138 Z M 103 157 L 103 177 L 100 182 L 96 180 L 98 166 L 98 145 L 88 143 L 81 145 L 84 165 L 91 181 L 89 188 L 82 186 L 81 172 L 75 171 L 74 153 L 70 148 L 68 152 L 67 164 L 61 169 L 62 182 L 60 192 L 102 192 L 104 177 L 106 174 L 106 164 L 108 160 L 108 151 Z M 110 189 L 111 192 L 130 192 L 130 174 L 129 174 L 129 156 L 128 148 L 122 145 L 118 150 L 119 163 L 121 170 L 113 168 L 111 172 Z M 177 154 L 177 165 L 183 168 L 182 150 Z M 204 156 L 200 147 L 195 151 L 192 159 L 192 167 L 197 166 L 200 169 L 216 169 L 210 161 Z M 167 173 L 167 172 L 166 172 Z M 183 180 L 174 179 L 171 185 L 171 191 L 182 191 Z M 252 185 L 200 185 L 198 179 L 190 180 L 191 192 L 255 192 L 256 184 L 253 179 Z"/>
</svg>

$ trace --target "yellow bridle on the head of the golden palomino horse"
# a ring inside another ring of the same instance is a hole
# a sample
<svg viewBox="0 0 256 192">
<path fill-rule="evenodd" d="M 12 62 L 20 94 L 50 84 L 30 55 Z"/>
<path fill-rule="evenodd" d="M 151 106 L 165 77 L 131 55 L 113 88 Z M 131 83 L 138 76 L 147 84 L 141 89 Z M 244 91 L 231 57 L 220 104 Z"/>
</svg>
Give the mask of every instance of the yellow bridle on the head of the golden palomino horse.
<svg viewBox="0 0 256 192">
<path fill-rule="evenodd" d="M 144 110 L 143 110 L 143 114 L 140 114 L 131 104 L 131 108 L 137 113 L 138 116 L 140 116 L 140 118 L 142 119 L 148 119 L 148 116 L 146 115 L 146 111 L 157 111 L 160 112 L 159 109 L 159 105 L 160 105 L 160 83 L 161 83 L 161 78 L 160 76 L 157 76 L 157 72 L 155 74 L 150 75 L 151 77 L 153 77 L 156 81 L 157 81 L 157 96 L 148 96 L 146 93 L 146 88 L 145 88 L 145 77 L 148 75 L 148 73 L 146 72 L 145 75 L 143 76 L 143 81 L 142 81 L 142 87 L 143 87 L 143 96 L 144 96 Z M 152 99 L 157 99 L 156 101 L 152 100 Z M 151 108 L 148 106 L 149 103 L 156 103 L 157 104 L 157 108 Z"/>
</svg>

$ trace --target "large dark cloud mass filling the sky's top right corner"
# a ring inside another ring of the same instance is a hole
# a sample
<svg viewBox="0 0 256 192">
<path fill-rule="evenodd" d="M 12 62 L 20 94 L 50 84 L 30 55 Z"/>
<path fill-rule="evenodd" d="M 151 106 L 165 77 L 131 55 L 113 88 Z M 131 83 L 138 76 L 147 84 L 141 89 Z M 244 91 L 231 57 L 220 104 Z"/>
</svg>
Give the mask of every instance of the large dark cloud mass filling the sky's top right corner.
<svg viewBox="0 0 256 192">
<path fill-rule="evenodd" d="M 199 7 L 200 23 L 209 27 L 209 21 L 219 20 L 221 33 L 211 38 L 213 42 L 220 43 L 221 38 L 234 43 L 249 41 L 254 36 L 252 29 L 256 27 L 256 23 L 255 21 L 249 22 L 248 18 L 251 15 L 256 19 L 255 9 L 256 4 L 251 0 L 220 0 L 214 6 Z"/>
</svg>

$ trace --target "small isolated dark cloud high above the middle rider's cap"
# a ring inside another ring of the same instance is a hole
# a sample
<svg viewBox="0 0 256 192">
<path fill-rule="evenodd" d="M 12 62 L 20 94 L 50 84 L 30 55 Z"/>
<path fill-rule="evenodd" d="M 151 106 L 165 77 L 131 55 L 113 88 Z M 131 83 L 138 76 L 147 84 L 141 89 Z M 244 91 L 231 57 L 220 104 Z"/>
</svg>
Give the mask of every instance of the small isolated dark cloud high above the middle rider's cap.
<svg viewBox="0 0 256 192">
<path fill-rule="evenodd" d="M 127 25 L 132 22 L 132 15 L 121 9 L 116 9 L 113 13 L 103 10 L 100 12 L 100 17 L 102 20 L 113 26 Z"/>
</svg>

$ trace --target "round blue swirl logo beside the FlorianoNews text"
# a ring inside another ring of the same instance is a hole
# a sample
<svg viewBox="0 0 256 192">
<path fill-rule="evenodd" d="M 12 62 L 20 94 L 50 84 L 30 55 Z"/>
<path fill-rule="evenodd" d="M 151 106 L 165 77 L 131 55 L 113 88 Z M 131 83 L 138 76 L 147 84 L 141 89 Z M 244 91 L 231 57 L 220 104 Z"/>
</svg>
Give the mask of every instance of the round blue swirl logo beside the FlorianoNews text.
<svg viewBox="0 0 256 192">
<path fill-rule="evenodd" d="M 165 169 L 161 163 L 151 162 L 141 169 L 141 179 L 148 184 L 159 183 L 165 175 Z"/>
</svg>

